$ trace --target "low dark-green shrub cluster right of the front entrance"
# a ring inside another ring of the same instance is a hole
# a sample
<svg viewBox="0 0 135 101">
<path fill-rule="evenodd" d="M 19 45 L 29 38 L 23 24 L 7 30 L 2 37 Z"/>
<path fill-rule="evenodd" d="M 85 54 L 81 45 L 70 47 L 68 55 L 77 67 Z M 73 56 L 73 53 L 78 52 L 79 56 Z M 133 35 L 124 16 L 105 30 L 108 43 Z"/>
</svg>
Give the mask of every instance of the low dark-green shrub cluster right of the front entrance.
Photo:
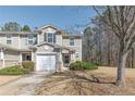
<svg viewBox="0 0 135 101">
<path fill-rule="evenodd" d="M 97 70 L 98 66 L 94 63 L 76 61 L 70 64 L 70 70 L 72 71 L 83 71 L 83 70 Z"/>
</svg>

